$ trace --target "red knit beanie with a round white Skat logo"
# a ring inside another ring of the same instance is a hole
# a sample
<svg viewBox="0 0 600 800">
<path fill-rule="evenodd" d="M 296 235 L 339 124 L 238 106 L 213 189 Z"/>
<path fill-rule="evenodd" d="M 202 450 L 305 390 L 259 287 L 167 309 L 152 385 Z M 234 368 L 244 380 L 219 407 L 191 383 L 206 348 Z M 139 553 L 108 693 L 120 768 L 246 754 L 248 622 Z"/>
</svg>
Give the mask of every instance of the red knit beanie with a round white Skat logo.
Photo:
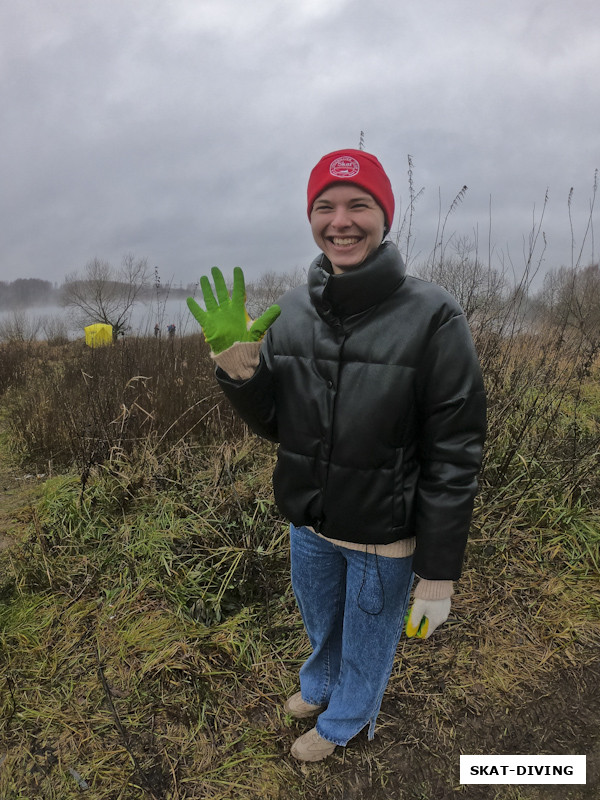
<svg viewBox="0 0 600 800">
<path fill-rule="evenodd" d="M 364 150 L 336 150 L 319 161 L 308 179 L 308 218 L 317 197 L 333 183 L 355 183 L 381 206 L 388 230 L 394 220 L 394 194 L 379 161 Z"/>
</svg>

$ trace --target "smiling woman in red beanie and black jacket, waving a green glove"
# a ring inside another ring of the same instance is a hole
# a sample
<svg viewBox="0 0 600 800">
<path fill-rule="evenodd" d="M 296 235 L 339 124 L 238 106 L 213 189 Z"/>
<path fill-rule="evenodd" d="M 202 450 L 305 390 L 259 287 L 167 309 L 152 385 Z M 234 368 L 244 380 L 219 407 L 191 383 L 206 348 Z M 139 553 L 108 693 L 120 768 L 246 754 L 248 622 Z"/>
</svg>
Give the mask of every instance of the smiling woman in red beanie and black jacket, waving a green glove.
<svg viewBox="0 0 600 800">
<path fill-rule="evenodd" d="M 379 161 L 329 153 L 307 201 L 321 254 L 306 286 L 249 330 L 239 269 L 231 298 L 214 269 L 218 302 L 203 278 L 207 311 L 189 305 L 224 392 L 279 443 L 273 487 L 291 522 L 292 585 L 313 649 L 284 708 L 316 716 L 291 752 L 317 761 L 366 726 L 373 738 L 415 574 L 407 634 L 427 638 L 448 617 L 485 397 L 462 310 L 407 276 L 385 241 L 394 196 Z"/>
</svg>

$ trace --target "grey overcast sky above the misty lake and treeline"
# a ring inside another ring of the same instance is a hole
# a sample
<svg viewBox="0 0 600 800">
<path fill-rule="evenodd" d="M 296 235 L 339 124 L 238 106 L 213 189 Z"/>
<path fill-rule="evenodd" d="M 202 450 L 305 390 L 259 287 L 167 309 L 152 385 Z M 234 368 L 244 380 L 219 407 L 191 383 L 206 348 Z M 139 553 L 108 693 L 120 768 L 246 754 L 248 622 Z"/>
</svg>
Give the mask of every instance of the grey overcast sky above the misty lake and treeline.
<svg viewBox="0 0 600 800">
<path fill-rule="evenodd" d="M 361 131 L 400 213 L 409 155 L 424 187 L 413 263 L 466 185 L 447 237 L 487 259 L 491 222 L 493 259 L 519 269 L 548 190 L 543 268 L 570 264 L 599 75 L 598 0 L 4 2 L 0 279 L 127 252 L 184 285 L 308 266 L 308 174 Z"/>
</svg>

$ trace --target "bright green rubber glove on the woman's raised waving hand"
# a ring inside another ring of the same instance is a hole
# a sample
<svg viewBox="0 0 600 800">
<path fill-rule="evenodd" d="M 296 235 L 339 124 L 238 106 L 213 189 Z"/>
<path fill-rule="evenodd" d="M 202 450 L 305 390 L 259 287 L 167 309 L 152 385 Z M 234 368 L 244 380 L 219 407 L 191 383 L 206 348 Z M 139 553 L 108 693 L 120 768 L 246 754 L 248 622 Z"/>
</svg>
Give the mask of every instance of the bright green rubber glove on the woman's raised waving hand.
<svg viewBox="0 0 600 800">
<path fill-rule="evenodd" d="M 246 311 L 246 284 L 241 267 L 233 270 L 233 291 L 231 297 L 225 279 L 218 267 L 212 270 L 217 299 L 206 275 L 200 278 L 200 288 L 204 297 L 206 311 L 203 311 L 193 297 L 188 297 L 188 308 L 198 320 L 204 338 L 215 355 L 227 350 L 234 342 L 259 342 L 277 317 L 281 309 L 270 306 L 255 322 Z M 252 323 L 252 324 L 250 324 Z"/>
</svg>

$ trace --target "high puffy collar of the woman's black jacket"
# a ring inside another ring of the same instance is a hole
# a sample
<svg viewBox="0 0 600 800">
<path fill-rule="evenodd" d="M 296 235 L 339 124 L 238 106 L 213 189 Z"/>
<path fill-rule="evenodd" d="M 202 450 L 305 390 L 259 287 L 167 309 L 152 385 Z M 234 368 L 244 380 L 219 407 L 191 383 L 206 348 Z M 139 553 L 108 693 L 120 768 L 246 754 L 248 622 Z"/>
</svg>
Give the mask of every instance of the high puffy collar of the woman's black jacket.
<svg viewBox="0 0 600 800">
<path fill-rule="evenodd" d="M 400 286 L 406 267 L 393 242 L 384 242 L 353 272 L 334 275 L 331 262 L 321 253 L 310 265 L 308 291 L 319 315 L 344 318 L 360 314 Z"/>
</svg>

